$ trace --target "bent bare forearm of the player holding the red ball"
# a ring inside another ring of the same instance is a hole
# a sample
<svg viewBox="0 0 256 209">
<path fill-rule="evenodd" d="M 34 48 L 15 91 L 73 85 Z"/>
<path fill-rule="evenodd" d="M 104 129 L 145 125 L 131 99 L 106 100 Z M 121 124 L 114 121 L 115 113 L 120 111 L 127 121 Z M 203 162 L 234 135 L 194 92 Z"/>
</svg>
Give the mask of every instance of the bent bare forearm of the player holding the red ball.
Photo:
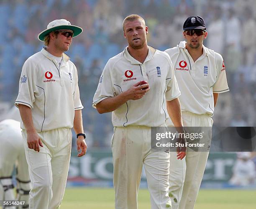
<svg viewBox="0 0 256 209">
<path fill-rule="evenodd" d="M 100 114 L 112 112 L 127 102 L 127 100 L 128 99 L 125 97 L 125 93 L 123 92 L 115 97 L 103 99 L 101 102 L 96 104 L 96 109 Z"/>
</svg>

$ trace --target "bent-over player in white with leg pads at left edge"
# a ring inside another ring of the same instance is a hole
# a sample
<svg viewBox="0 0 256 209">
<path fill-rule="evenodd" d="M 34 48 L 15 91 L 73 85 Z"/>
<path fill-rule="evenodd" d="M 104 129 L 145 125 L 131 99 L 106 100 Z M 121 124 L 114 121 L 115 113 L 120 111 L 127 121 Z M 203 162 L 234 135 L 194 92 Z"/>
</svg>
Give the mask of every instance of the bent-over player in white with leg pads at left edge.
<svg viewBox="0 0 256 209">
<path fill-rule="evenodd" d="M 28 208 L 31 190 L 28 163 L 21 135 L 20 113 L 16 107 L 14 108 L 12 113 L 15 120 L 9 117 L 0 122 L 0 200 L 17 200 L 25 203 L 18 207 L 8 206 L 6 207 L 8 209 Z M 14 197 L 12 183 L 13 168 L 16 168 L 16 197 Z"/>
</svg>

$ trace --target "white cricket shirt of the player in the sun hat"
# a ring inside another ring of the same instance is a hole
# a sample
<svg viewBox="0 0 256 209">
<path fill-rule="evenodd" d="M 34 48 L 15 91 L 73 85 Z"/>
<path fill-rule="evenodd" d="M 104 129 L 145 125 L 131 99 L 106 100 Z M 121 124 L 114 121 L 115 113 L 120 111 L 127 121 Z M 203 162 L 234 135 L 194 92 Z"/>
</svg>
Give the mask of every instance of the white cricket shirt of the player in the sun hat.
<svg viewBox="0 0 256 209">
<path fill-rule="evenodd" d="M 76 66 L 63 54 L 59 66 L 44 48 L 29 57 L 22 67 L 19 94 L 15 105 L 31 108 L 36 131 L 72 128 L 74 110 L 83 108 L 80 101 Z M 25 129 L 23 122 L 21 128 Z"/>
</svg>

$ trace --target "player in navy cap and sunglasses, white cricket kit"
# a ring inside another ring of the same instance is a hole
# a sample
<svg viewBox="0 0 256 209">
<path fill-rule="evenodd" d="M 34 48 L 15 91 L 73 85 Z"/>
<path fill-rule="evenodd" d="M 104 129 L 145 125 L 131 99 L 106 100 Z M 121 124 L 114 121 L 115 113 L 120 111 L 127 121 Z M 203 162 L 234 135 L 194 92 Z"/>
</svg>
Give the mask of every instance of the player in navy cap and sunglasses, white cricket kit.
<svg viewBox="0 0 256 209">
<path fill-rule="evenodd" d="M 183 125 L 212 127 L 218 94 L 229 91 L 224 61 L 220 54 L 202 44 L 207 38 L 203 18 L 187 18 L 183 30 L 186 41 L 166 50 L 174 64 L 181 91 L 179 100 Z M 175 158 L 176 153 L 170 153 L 169 195 L 174 209 L 194 208 L 208 154 L 209 152 L 188 151 L 180 161 Z"/>
</svg>

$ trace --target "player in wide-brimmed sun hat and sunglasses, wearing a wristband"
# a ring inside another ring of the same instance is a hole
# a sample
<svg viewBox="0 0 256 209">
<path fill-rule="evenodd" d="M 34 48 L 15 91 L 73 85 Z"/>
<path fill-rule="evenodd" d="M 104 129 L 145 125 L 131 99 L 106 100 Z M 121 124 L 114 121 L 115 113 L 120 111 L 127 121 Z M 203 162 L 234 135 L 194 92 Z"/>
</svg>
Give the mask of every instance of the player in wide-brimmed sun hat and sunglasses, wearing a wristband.
<svg viewBox="0 0 256 209">
<path fill-rule="evenodd" d="M 75 65 L 64 51 L 82 28 L 54 20 L 38 35 L 46 47 L 23 65 L 15 104 L 21 128 L 32 189 L 29 208 L 56 209 L 64 196 L 72 132 L 77 134 L 81 157 L 87 145 L 82 126 L 83 108 Z"/>
</svg>

